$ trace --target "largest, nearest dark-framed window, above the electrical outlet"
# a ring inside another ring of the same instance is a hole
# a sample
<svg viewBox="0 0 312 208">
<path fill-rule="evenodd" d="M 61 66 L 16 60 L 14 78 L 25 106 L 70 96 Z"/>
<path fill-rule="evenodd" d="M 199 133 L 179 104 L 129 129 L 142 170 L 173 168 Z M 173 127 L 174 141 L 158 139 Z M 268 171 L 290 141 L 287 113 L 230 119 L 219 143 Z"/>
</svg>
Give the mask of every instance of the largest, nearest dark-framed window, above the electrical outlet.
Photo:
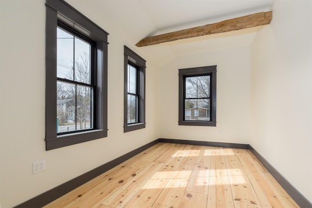
<svg viewBox="0 0 312 208">
<path fill-rule="evenodd" d="M 46 149 L 107 136 L 107 35 L 63 0 L 46 0 Z"/>
</svg>

